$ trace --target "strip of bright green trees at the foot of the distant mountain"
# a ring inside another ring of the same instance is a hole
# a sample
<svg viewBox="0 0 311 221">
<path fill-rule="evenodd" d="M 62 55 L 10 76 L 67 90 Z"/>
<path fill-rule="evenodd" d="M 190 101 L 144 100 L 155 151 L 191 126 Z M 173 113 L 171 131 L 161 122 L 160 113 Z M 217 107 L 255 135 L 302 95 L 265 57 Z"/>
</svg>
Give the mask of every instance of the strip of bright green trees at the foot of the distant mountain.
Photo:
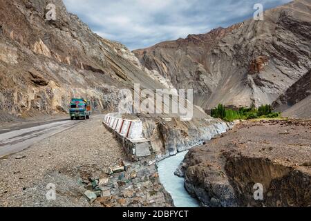
<svg viewBox="0 0 311 221">
<path fill-rule="evenodd" d="M 262 105 L 256 108 L 252 105 L 250 108 L 239 108 L 237 111 L 225 108 L 223 104 L 218 104 L 217 108 L 211 110 L 211 117 L 221 118 L 227 122 L 235 119 L 257 119 L 257 118 L 276 118 L 281 117 L 281 113 L 272 112 L 271 105 Z"/>
</svg>

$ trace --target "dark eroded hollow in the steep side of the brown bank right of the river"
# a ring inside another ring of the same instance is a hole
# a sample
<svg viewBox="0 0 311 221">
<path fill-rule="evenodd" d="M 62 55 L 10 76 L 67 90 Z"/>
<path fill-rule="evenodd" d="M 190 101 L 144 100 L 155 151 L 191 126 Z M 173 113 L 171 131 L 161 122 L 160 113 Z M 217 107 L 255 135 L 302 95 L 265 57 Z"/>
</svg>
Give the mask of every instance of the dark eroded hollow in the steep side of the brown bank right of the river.
<svg viewBox="0 0 311 221">
<path fill-rule="evenodd" d="M 240 206 L 310 206 L 311 176 L 306 171 L 243 155 L 228 156 L 225 171 Z M 256 183 L 268 186 L 263 200 L 254 200 Z"/>
</svg>

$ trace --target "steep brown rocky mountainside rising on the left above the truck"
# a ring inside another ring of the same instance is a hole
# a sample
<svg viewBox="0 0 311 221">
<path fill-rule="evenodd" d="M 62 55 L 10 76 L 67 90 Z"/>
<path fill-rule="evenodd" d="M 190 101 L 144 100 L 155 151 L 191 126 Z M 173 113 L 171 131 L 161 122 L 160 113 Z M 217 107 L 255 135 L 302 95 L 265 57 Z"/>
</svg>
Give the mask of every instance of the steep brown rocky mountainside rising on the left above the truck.
<svg viewBox="0 0 311 221">
<path fill-rule="evenodd" d="M 46 19 L 48 3 L 55 4 L 55 21 Z M 169 87 L 125 46 L 91 32 L 61 0 L 0 0 L 0 17 L 1 113 L 64 112 L 73 96 L 91 99 L 95 111 L 115 110 L 119 89 L 133 82 Z"/>
</svg>

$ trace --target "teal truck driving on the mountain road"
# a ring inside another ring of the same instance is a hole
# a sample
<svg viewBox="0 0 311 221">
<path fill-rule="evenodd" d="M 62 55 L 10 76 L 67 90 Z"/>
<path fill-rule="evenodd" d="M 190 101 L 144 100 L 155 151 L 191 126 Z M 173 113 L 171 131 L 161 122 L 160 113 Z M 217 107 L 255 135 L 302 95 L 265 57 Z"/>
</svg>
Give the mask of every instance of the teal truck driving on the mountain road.
<svg viewBox="0 0 311 221">
<path fill-rule="evenodd" d="M 69 104 L 70 119 L 89 119 L 91 116 L 91 102 L 84 98 L 73 98 Z"/>
</svg>

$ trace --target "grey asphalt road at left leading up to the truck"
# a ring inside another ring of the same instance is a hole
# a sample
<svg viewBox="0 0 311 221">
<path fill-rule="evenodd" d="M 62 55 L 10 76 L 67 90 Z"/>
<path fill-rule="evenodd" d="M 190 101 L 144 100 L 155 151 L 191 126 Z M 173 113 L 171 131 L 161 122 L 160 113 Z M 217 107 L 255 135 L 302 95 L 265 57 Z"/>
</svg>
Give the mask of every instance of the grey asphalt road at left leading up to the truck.
<svg viewBox="0 0 311 221">
<path fill-rule="evenodd" d="M 79 124 L 82 120 L 57 119 L 0 129 L 0 158 L 18 153 L 32 144 Z"/>
</svg>

